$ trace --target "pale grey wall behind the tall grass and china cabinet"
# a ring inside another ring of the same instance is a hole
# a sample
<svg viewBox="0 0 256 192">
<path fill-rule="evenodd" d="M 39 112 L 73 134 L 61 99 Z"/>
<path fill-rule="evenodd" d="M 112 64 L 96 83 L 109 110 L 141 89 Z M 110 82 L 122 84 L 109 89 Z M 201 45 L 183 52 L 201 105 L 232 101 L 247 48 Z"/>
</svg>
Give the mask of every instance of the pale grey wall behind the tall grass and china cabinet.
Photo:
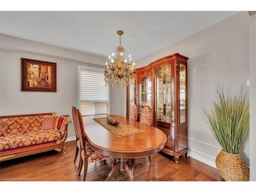
<svg viewBox="0 0 256 192">
<path fill-rule="evenodd" d="M 175 27 L 175 26 L 174 26 Z M 249 15 L 240 12 L 136 61 L 137 67 L 173 53 L 188 59 L 189 155 L 215 166 L 220 146 L 206 128 L 202 106 L 207 106 L 217 83 L 236 89 L 249 78 Z M 249 163 L 249 138 L 242 147 Z"/>
</svg>

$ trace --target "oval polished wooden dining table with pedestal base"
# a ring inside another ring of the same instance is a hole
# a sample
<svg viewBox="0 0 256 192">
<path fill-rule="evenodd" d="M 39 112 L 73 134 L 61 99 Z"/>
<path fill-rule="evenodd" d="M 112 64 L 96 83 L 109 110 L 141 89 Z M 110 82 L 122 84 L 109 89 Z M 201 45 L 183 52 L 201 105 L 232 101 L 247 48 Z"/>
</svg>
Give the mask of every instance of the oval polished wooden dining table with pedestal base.
<svg viewBox="0 0 256 192">
<path fill-rule="evenodd" d="M 118 115 L 108 116 L 143 132 L 118 138 L 95 120 L 84 117 L 83 122 L 86 137 L 93 150 L 100 154 L 119 159 L 119 162 L 114 164 L 105 181 L 111 180 L 118 170 L 126 171 L 130 180 L 134 181 L 132 169 L 128 163 L 129 159 L 146 157 L 158 153 L 164 147 L 167 139 L 166 135 L 153 126 L 146 126 Z M 95 118 L 100 117 L 106 117 L 106 115 L 95 116 Z"/>
</svg>

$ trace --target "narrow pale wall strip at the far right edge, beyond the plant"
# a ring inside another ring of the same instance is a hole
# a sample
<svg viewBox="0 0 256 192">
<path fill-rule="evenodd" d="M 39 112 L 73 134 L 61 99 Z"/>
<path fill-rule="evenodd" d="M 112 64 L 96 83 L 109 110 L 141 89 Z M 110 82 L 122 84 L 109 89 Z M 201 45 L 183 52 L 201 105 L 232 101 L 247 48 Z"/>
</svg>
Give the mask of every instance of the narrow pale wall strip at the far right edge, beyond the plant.
<svg viewBox="0 0 256 192">
<path fill-rule="evenodd" d="M 256 14 L 250 16 L 250 181 L 256 181 Z"/>
</svg>

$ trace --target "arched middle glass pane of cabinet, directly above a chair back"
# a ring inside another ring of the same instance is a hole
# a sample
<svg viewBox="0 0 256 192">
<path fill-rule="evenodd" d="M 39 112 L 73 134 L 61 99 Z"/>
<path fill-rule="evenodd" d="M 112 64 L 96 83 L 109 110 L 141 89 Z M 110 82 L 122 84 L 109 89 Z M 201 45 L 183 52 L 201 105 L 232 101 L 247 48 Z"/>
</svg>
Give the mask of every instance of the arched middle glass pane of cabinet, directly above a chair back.
<svg viewBox="0 0 256 192">
<path fill-rule="evenodd" d="M 152 108 L 152 82 L 151 78 L 144 78 L 139 84 L 139 114 L 144 106 Z"/>
</svg>

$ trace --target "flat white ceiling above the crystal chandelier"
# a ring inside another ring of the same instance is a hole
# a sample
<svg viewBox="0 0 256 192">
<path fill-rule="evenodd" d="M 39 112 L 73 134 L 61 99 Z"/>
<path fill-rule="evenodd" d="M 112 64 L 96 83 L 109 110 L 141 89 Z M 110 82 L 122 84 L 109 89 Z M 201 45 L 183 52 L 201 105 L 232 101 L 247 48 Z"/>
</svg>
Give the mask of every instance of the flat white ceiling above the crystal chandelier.
<svg viewBox="0 0 256 192">
<path fill-rule="evenodd" d="M 235 14 L 228 11 L 0 12 L 0 33 L 107 56 L 124 31 L 126 54 L 138 60 Z"/>
</svg>

